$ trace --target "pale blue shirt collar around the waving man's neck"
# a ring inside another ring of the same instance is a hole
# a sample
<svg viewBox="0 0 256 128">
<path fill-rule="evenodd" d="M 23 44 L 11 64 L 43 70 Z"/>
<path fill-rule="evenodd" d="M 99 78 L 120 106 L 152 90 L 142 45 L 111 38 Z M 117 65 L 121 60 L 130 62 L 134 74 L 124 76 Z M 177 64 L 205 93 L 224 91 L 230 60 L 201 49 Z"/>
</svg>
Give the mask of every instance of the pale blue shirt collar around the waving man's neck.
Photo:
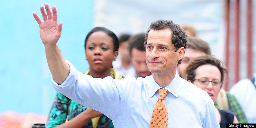
<svg viewBox="0 0 256 128">
<path fill-rule="evenodd" d="M 168 90 L 170 93 L 172 93 L 172 95 L 174 95 L 175 97 L 179 96 L 179 90 L 181 88 L 181 84 L 180 84 L 179 79 L 181 79 L 181 77 L 179 76 L 179 74 L 176 71 L 174 79 L 172 79 L 170 84 L 168 84 L 165 87 L 165 89 Z M 157 90 L 159 90 L 162 87 L 159 86 L 157 84 L 157 82 L 154 81 L 153 77 L 151 77 L 149 81 L 150 81 L 149 84 L 148 84 L 149 96 L 152 97 L 157 92 Z"/>
</svg>

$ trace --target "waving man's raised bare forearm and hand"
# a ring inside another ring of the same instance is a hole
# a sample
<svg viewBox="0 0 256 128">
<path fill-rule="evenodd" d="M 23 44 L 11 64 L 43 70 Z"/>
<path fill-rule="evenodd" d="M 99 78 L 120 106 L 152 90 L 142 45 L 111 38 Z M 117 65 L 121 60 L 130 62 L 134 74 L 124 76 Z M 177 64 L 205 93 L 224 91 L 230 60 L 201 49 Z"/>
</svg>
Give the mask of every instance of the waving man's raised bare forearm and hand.
<svg viewBox="0 0 256 128">
<path fill-rule="evenodd" d="M 33 16 L 39 24 L 40 37 L 44 44 L 46 59 L 51 74 L 58 84 L 62 84 L 70 70 L 57 45 L 57 41 L 61 36 L 62 22 L 57 24 L 57 9 L 55 6 L 53 6 L 53 12 L 51 12 L 48 4 L 44 4 L 44 6 L 47 14 L 44 11 L 44 7 L 40 6 L 42 18 L 44 19 L 43 22 L 35 12 L 33 12 Z"/>
</svg>

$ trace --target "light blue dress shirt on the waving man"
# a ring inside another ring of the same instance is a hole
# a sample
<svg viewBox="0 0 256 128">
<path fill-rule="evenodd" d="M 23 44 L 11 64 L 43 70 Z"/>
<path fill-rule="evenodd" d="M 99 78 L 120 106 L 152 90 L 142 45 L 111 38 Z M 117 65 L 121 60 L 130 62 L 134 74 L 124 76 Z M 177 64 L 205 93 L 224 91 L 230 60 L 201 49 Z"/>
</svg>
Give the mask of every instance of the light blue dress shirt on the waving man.
<svg viewBox="0 0 256 128">
<path fill-rule="evenodd" d="M 68 61 L 67 61 L 68 62 Z M 109 117 L 115 128 L 148 128 L 154 104 L 161 88 L 152 75 L 145 78 L 93 78 L 78 72 L 70 65 L 66 80 L 52 85 L 59 93 L 79 104 L 93 108 Z M 168 128 L 219 128 L 215 108 L 209 95 L 192 83 L 179 77 L 166 89 Z"/>
</svg>

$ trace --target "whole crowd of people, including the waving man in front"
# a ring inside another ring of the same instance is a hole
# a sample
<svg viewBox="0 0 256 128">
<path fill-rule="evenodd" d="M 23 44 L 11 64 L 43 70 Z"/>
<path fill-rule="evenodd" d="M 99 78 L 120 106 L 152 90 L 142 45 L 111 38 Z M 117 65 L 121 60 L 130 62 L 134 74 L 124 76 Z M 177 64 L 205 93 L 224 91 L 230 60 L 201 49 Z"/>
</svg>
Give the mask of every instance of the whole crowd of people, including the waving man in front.
<svg viewBox="0 0 256 128">
<path fill-rule="evenodd" d="M 56 7 L 51 11 L 44 6 L 44 21 L 35 12 L 33 16 L 57 91 L 46 128 L 225 128 L 227 123 L 256 123 L 255 78 L 241 80 L 230 92 L 222 89 L 225 65 L 196 37 L 193 26 L 157 20 L 146 33 L 119 38 L 95 27 L 84 42 L 89 69 L 81 73 L 57 46 L 62 22 L 57 23 Z M 245 86 L 250 97 L 243 96 Z M 159 110 L 165 115 L 160 120 L 152 114 L 159 101 L 165 109 Z"/>
</svg>

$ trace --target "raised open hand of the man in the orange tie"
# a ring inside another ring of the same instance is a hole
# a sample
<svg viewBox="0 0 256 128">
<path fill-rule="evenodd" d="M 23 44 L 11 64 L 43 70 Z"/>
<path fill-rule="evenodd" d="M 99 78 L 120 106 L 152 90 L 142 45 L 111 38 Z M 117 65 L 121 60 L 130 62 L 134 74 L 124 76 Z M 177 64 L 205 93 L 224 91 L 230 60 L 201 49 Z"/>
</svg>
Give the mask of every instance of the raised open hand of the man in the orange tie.
<svg viewBox="0 0 256 128">
<path fill-rule="evenodd" d="M 44 11 L 44 7 L 47 14 Z M 53 6 L 53 12 L 51 12 L 51 9 L 47 3 L 44 4 L 44 7 L 40 6 L 40 11 L 44 19 L 43 22 L 35 12 L 33 12 L 33 16 L 39 24 L 40 37 L 44 46 L 56 45 L 61 36 L 62 22 L 57 24 L 57 9 L 55 6 Z"/>
</svg>

